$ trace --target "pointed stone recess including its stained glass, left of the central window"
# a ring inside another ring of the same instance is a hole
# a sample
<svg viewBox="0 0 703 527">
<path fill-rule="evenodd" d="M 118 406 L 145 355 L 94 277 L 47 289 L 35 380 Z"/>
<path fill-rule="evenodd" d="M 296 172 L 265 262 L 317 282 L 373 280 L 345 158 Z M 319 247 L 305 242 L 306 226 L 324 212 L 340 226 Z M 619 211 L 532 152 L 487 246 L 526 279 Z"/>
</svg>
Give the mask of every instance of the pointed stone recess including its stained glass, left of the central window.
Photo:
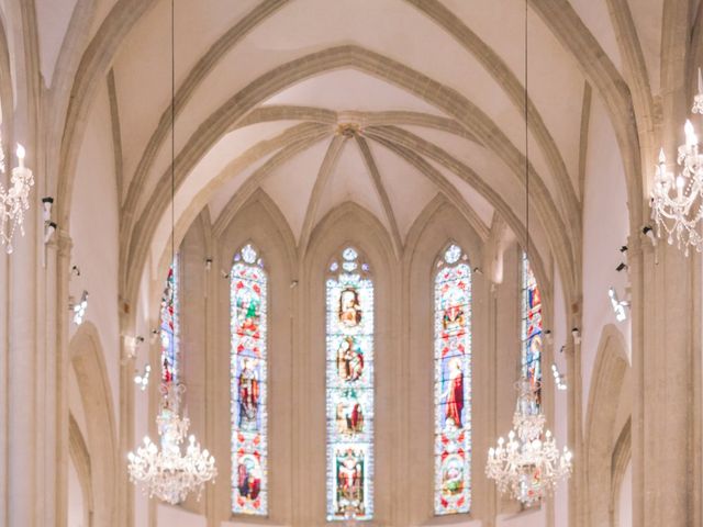
<svg viewBox="0 0 703 527">
<path fill-rule="evenodd" d="M 258 255 L 254 266 L 245 265 L 242 255 L 247 245 L 255 248 Z M 237 255 L 241 257 L 238 260 Z M 259 258 L 264 268 L 259 266 Z M 237 295 L 233 294 L 237 287 L 235 274 L 238 264 L 242 264 L 242 269 L 248 269 L 244 277 L 239 274 L 239 279 L 245 279 L 239 280 L 243 282 L 242 289 L 248 287 L 248 291 L 253 291 L 256 283 L 263 293 L 258 299 L 260 305 L 258 309 L 254 305 L 253 313 L 248 310 L 250 303 L 247 303 L 246 298 L 239 299 L 243 302 L 237 309 Z M 225 460 L 219 466 L 221 478 L 215 482 L 213 509 L 217 511 L 217 519 L 221 522 L 230 520 L 232 514 L 236 514 L 267 515 L 270 522 L 283 524 L 292 514 L 290 481 L 294 407 L 291 397 L 291 369 L 294 357 L 291 350 L 293 328 L 290 317 L 294 300 L 291 283 L 297 280 L 297 250 L 283 214 L 265 191 L 258 189 L 254 192 L 232 214 L 230 221 L 221 225 L 215 235 L 212 267 L 216 270 L 211 274 L 216 306 L 213 324 L 214 354 L 209 362 L 213 365 L 214 374 L 209 382 L 215 383 L 216 392 L 228 394 L 222 400 L 216 397 L 222 403 L 217 403 L 213 412 L 213 419 L 216 422 L 216 440 L 213 441 L 215 456 Z M 223 278 L 220 270 L 227 277 Z M 258 282 L 253 280 L 250 270 L 258 270 Z M 254 316 L 247 321 L 250 314 Z M 253 324 L 256 325 L 257 321 L 259 334 L 253 338 L 256 333 L 252 330 Z M 239 329 L 241 335 L 237 335 Z M 256 344 L 259 356 L 256 356 L 253 344 Z M 237 354 L 239 345 L 244 349 Z M 249 360 L 249 371 L 244 371 L 245 358 Z M 256 359 L 256 365 L 252 359 Z M 246 375 L 241 385 L 243 372 Z M 252 405 L 255 400 L 250 396 L 255 384 L 258 384 L 256 408 Z M 248 397 L 248 401 L 242 401 L 242 408 L 239 389 Z M 255 410 L 250 415 L 256 417 L 256 426 L 252 419 L 239 423 L 244 410 Z M 243 434 L 243 437 L 235 434 Z M 252 448 L 255 436 L 260 440 L 256 452 Z M 238 469 L 239 466 L 242 469 Z M 260 471 L 260 478 L 257 471 Z M 241 475 L 253 475 L 253 480 L 248 485 L 244 482 L 239 485 Z M 255 483 L 258 485 L 258 495 L 257 490 L 252 486 Z"/>
</svg>

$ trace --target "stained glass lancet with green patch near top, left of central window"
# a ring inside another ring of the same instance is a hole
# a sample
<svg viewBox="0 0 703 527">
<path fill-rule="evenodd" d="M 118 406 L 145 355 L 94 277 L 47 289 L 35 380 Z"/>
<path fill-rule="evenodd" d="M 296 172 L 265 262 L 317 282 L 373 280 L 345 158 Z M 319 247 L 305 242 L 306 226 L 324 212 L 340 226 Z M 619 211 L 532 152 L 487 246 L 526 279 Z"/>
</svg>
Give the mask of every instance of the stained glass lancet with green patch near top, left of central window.
<svg viewBox="0 0 703 527">
<path fill-rule="evenodd" d="M 232 512 L 268 514 L 267 276 L 245 245 L 230 273 Z"/>
</svg>

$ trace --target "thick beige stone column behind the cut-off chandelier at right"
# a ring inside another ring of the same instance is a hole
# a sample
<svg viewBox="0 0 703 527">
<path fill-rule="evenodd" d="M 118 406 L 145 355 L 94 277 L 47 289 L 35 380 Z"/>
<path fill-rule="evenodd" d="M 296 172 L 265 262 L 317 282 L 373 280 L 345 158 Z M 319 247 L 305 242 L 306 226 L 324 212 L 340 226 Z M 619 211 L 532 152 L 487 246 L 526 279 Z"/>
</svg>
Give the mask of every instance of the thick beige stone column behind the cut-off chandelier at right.
<svg viewBox="0 0 703 527">
<path fill-rule="evenodd" d="M 661 142 L 671 169 L 689 117 L 687 57 L 691 12 L 688 1 L 665 2 L 661 41 Z M 656 159 L 643 159 L 651 177 Z M 649 181 L 647 181 L 649 182 Z M 648 187 L 648 186 L 646 186 Z M 648 208 L 645 204 L 645 215 Z M 633 225 L 634 236 L 640 226 Z M 633 261 L 633 416 L 634 525 L 696 525 L 700 482 L 692 466 L 698 379 L 693 327 L 700 276 L 696 258 L 660 239 L 656 248 L 641 240 Z M 700 294 L 700 292 L 698 293 Z"/>
</svg>

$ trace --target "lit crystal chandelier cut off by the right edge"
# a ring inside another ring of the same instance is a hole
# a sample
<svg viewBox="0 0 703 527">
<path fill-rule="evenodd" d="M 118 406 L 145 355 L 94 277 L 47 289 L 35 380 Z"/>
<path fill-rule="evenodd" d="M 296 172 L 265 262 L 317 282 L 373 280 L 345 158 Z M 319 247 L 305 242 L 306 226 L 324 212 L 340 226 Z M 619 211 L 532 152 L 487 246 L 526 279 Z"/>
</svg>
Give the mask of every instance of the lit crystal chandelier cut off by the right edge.
<svg viewBox="0 0 703 527">
<path fill-rule="evenodd" d="M 700 69 L 699 90 L 691 112 L 703 114 L 703 78 Z M 703 250 L 703 237 L 699 233 L 699 223 L 703 218 L 703 157 L 699 153 L 699 138 L 691 121 L 687 120 L 683 131 L 685 144 L 679 146 L 677 175 L 667 169 L 663 148 L 659 152 L 650 204 L 657 236 L 666 233 L 670 245 L 676 237 L 677 247 L 689 256 L 691 246 L 699 253 Z"/>
</svg>

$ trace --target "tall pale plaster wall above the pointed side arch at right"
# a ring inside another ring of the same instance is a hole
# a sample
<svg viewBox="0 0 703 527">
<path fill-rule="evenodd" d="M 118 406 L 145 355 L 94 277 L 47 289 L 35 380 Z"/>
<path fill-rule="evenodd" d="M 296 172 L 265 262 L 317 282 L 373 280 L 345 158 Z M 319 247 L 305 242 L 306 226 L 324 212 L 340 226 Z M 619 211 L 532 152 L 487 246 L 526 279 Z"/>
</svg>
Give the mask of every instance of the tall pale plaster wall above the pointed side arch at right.
<svg viewBox="0 0 703 527">
<path fill-rule="evenodd" d="M 607 289 L 625 294 L 627 272 L 615 268 L 626 261 L 620 247 L 627 244 L 628 215 L 625 176 L 620 149 L 600 98 L 593 98 L 591 128 L 585 166 L 583 202 L 583 327 L 581 328 L 581 368 L 583 415 L 589 401 L 593 365 L 605 324 L 615 324 L 625 336 L 629 356 L 629 317 L 615 321 Z M 629 312 L 628 312 L 629 315 Z"/>
</svg>

